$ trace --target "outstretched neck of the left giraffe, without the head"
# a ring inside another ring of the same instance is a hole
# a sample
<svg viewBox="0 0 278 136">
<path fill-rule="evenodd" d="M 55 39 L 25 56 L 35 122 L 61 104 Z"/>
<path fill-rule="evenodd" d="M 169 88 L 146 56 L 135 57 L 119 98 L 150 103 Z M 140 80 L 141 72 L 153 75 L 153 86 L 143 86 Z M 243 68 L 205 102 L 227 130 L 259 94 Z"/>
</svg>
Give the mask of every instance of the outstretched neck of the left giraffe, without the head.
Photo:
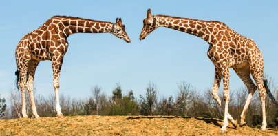
<svg viewBox="0 0 278 136">
<path fill-rule="evenodd" d="M 67 37 L 75 33 L 112 33 L 114 25 L 111 22 L 76 17 L 52 17 L 49 21 L 56 23 Z"/>
</svg>

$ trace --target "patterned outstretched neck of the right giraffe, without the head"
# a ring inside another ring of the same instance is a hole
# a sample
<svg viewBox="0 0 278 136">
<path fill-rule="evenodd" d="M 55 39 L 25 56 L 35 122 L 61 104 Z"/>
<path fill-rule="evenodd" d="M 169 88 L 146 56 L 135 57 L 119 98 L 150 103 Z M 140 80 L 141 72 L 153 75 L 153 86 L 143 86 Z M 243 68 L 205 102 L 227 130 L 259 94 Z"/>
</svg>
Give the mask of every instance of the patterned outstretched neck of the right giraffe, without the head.
<svg viewBox="0 0 278 136">
<path fill-rule="evenodd" d="M 224 23 L 218 21 L 200 21 L 195 19 L 186 19 L 180 17 L 170 17 L 164 15 L 158 15 L 157 24 L 158 26 L 163 26 L 171 28 L 174 30 L 179 30 L 181 32 L 186 32 L 191 35 L 195 35 L 211 43 L 214 36 L 213 28 L 215 26 L 225 26 Z"/>
</svg>

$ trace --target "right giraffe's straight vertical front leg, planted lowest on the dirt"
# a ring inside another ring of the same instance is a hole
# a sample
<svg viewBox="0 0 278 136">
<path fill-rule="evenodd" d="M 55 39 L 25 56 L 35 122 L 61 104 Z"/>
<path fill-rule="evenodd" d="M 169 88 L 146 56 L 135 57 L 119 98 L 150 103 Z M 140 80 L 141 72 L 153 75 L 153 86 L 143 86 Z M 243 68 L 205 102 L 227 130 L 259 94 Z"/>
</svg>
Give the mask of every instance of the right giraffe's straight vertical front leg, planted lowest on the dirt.
<svg viewBox="0 0 278 136">
<path fill-rule="evenodd" d="M 220 133 L 227 133 L 226 127 L 228 126 L 228 101 L 230 99 L 229 90 L 228 90 L 229 74 L 230 74 L 230 69 L 228 68 L 227 64 L 224 64 L 222 68 L 222 77 L 223 77 L 223 86 L 224 86 L 223 99 L 225 102 L 225 110 L 224 110 L 224 122 Z"/>
</svg>

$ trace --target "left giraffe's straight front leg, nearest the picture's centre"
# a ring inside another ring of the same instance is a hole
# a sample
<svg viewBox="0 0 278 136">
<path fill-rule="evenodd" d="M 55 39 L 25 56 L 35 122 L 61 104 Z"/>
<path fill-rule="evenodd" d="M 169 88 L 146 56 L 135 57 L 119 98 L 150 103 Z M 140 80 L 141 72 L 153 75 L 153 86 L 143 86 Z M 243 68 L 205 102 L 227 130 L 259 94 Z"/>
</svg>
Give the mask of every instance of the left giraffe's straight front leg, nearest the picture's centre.
<svg viewBox="0 0 278 136">
<path fill-rule="evenodd" d="M 63 117 L 63 114 L 61 112 L 61 108 L 60 108 L 60 103 L 59 103 L 59 77 L 60 77 L 60 71 L 62 68 L 62 64 L 63 64 L 63 57 L 62 56 L 54 56 L 52 57 L 52 69 L 53 69 L 53 86 L 55 89 L 55 98 L 56 98 L 56 112 L 57 115 L 56 117 Z"/>
</svg>

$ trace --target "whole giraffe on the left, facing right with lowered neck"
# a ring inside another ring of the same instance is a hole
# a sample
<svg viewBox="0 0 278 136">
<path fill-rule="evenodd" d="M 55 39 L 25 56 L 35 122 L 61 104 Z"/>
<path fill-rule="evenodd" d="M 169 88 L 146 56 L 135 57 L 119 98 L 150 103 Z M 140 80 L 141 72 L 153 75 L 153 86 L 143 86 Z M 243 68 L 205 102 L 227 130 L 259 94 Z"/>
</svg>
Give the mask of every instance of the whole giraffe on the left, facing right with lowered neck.
<svg viewBox="0 0 278 136">
<path fill-rule="evenodd" d="M 56 97 L 56 117 L 63 117 L 59 104 L 58 88 L 60 71 L 64 55 L 69 44 L 67 37 L 74 33 L 111 33 L 130 43 L 122 19 L 116 18 L 116 23 L 82 19 L 79 17 L 54 16 L 48 19 L 43 26 L 25 35 L 15 50 L 17 61 L 17 88 L 21 88 L 22 115 L 27 117 L 25 110 L 25 87 L 30 95 L 32 113 L 38 118 L 34 103 L 33 84 L 36 67 L 40 61 L 52 61 L 53 85 Z M 25 81 L 27 78 L 27 82 Z"/>
</svg>

